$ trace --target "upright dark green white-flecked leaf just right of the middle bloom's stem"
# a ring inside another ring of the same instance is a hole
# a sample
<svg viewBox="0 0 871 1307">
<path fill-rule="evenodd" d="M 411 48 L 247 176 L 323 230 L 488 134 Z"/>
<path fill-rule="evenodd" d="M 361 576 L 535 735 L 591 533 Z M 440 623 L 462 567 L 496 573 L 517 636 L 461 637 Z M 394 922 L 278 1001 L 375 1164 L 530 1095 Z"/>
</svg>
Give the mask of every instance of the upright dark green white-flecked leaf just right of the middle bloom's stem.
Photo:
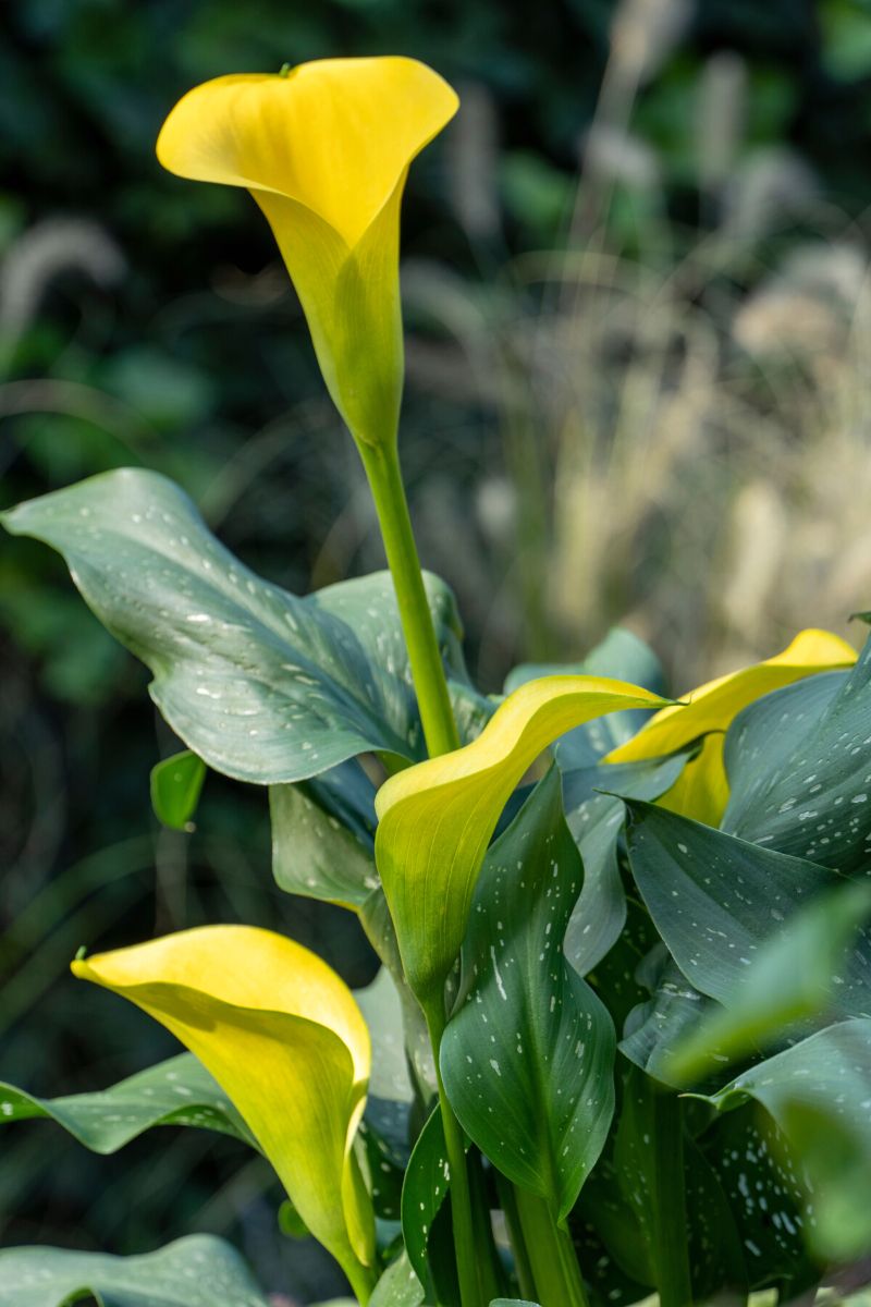
<svg viewBox="0 0 871 1307">
<path fill-rule="evenodd" d="M 614 1111 L 614 1026 L 563 954 L 581 876 L 551 769 L 484 859 L 440 1057 L 466 1133 L 560 1221 Z"/>
</svg>

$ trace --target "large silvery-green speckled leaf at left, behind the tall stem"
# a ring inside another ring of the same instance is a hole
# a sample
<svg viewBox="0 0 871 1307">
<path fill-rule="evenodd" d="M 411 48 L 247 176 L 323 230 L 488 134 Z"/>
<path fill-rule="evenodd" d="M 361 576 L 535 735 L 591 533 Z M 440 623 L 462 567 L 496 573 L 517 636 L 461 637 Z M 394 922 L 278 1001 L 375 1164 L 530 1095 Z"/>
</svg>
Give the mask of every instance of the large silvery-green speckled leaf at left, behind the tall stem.
<svg viewBox="0 0 871 1307">
<path fill-rule="evenodd" d="M 1 520 L 64 555 L 90 608 L 150 668 L 168 724 L 215 771 L 270 784 L 368 750 L 424 755 L 388 572 L 296 599 L 234 558 L 178 486 L 141 469 L 91 477 Z M 427 586 L 453 678 L 454 603 L 441 582 Z"/>
</svg>

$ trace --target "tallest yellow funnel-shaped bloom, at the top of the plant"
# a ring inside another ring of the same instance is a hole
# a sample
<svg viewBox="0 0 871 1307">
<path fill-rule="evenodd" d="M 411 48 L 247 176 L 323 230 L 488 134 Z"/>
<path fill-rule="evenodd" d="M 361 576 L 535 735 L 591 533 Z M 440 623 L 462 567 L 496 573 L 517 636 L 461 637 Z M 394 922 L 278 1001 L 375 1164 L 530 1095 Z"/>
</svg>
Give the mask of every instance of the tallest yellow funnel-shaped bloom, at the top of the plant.
<svg viewBox="0 0 871 1307">
<path fill-rule="evenodd" d="M 323 59 L 196 86 L 157 142 L 170 173 L 251 191 L 296 286 L 329 392 L 363 444 L 396 439 L 405 178 L 457 105 L 414 59 Z"/>
</svg>

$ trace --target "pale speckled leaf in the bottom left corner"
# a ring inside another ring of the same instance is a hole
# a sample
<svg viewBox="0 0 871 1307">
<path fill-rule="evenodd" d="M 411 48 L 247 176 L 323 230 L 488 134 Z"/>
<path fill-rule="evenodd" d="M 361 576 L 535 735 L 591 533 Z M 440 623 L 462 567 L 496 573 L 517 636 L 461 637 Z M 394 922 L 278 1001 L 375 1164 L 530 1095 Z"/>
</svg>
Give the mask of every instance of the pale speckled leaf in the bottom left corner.
<svg viewBox="0 0 871 1307">
<path fill-rule="evenodd" d="M 65 1248 L 0 1249 L 0 1307 L 268 1307 L 242 1257 L 196 1234 L 141 1257 Z"/>
</svg>

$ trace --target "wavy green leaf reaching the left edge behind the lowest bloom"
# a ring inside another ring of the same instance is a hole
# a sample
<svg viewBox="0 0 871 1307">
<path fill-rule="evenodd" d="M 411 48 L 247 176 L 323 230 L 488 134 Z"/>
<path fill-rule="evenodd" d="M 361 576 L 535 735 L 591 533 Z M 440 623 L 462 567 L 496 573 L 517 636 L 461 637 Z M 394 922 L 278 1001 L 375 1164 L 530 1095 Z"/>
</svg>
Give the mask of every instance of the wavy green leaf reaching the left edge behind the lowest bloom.
<svg viewBox="0 0 871 1307">
<path fill-rule="evenodd" d="M 191 1053 L 149 1067 L 111 1089 L 63 1098 L 37 1098 L 0 1084 L 0 1125 L 47 1117 L 93 1153 L 115 1153 L 154 1125 L 195 1125 L 256 1142 L 209 1072 Z"/>
</svg>

